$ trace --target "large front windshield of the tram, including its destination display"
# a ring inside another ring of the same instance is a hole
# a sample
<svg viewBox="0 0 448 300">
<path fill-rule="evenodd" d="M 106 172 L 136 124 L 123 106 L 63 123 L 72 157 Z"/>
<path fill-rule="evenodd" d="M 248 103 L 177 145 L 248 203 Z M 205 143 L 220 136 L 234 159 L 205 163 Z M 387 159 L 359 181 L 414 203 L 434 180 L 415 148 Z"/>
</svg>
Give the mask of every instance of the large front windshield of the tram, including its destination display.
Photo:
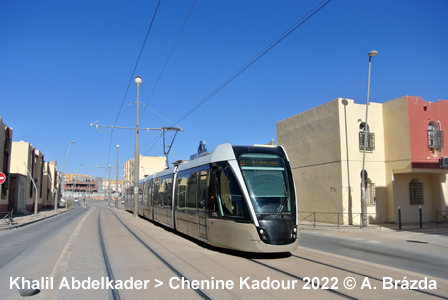
<svg viewBox="0 0 448 300">
<path fill-rule="evenodd" d="M 257 214 L 291 212 L 292 197 L 283 159 L 276 154 L 245 153 L 238 157 Z"/>
</svg>

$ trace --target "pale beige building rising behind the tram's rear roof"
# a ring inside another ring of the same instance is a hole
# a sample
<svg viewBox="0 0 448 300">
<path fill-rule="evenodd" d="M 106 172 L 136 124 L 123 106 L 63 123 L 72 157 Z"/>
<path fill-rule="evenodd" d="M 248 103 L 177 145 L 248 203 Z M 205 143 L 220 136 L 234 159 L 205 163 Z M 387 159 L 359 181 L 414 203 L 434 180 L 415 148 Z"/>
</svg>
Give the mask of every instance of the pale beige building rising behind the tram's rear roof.
<svg viewBox="0 0 448 300">
<path fill-rule="evenodd" d="M 140 155 L 140 168 L 138 179 L 143 179 L 147 175 L 154 174 L 166 169 L 165 156 L 151 157 Z M 134 183 L 134 159 L 130 159 L 123 165 L 123 186 L 127 186 Z"/>
</svg>

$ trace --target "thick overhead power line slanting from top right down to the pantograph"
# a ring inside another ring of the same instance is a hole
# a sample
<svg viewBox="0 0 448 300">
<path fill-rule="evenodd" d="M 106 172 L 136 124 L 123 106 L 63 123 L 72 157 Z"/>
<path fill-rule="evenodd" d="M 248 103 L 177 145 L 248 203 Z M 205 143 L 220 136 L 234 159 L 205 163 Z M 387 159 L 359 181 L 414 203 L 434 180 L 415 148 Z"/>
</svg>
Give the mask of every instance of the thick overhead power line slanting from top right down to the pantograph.
<svg viewBox="0 0 448 300">
<path fill-rule="evenodd" d="M 325 2 L 325 3 L 324 3 Z M 305 16 L 303 16 L 300 20 L 298 20 L 294 25 L 292 25 L 288 30 L 282 33 L 279 37 L 277 37 L 272 43 L 270 43 L 266 48 L 264 48 L 261 52 L 255 55 L 251 60 L 249 60 L 244 66 L 242 66 L 238 71 L 233 73 L 232 76 L 227 78 L 221 85 L 219 85 L 216 89 L 214 89 L 210 94 L 208 94 L 204 99 L 199 101 L 193 108 L 191 108 L 185 115 L 183 115 L 177 122 L 176 125 L 179 124 L 182 120 L 188 117 L 191 113 L 193 113 L 196 109 L 198 109 L 202 104 L 207 102 L 210 98 L 212 98 L 216 93 L 222 90 L 226 85 L 232 82 L 236 77 L 238 77 L 241 73 L 247 70 L 250 66 L 252 66 L 256 61 L 258 61 L 261 57 L 263 57 L 266 53 L 268 53 L 272 48 L 277 46 L 281 41 L 283 41 L 287 36 L 293 33 L 297 28 L 299 28 L 303 23 L 308 21 L 312 16 L 314 16 L 317 12 L 319 12 L 322 8 L 324 8 L 331 0 L 324 0 L 320 2 L 316 7 L 314 7 L 311 11 L 309 11 Z M 322 4 L 323 3 L 323 4 Z"/>
</svg>

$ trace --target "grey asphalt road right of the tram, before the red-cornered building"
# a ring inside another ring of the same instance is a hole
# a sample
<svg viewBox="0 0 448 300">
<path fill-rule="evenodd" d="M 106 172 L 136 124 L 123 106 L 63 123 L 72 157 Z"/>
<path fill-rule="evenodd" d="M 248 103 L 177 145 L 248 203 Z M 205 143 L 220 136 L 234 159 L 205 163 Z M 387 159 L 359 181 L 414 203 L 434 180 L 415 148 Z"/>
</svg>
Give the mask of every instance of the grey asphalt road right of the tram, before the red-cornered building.
<svg viewBox="0 0 448 300">
<path fill-rule="evenodd" d="M 448 237 L 413 232 L 300 232 L 299 246 L 448 279 Z"/>
</svg>

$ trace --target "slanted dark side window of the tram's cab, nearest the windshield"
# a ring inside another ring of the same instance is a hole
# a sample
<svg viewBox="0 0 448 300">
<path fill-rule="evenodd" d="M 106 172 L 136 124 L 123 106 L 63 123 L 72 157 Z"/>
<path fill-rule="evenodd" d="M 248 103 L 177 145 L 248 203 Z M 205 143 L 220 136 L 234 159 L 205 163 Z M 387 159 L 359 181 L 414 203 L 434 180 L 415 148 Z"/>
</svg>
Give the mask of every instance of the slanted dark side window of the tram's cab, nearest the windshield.
<svg viewBox="0 0 448 300">
<path fill-rule="evenodd" d="M 223 217 L 250 219 L 238 181 L 229 167 L 216 171 L 217 196 Z"/>
</svg>

